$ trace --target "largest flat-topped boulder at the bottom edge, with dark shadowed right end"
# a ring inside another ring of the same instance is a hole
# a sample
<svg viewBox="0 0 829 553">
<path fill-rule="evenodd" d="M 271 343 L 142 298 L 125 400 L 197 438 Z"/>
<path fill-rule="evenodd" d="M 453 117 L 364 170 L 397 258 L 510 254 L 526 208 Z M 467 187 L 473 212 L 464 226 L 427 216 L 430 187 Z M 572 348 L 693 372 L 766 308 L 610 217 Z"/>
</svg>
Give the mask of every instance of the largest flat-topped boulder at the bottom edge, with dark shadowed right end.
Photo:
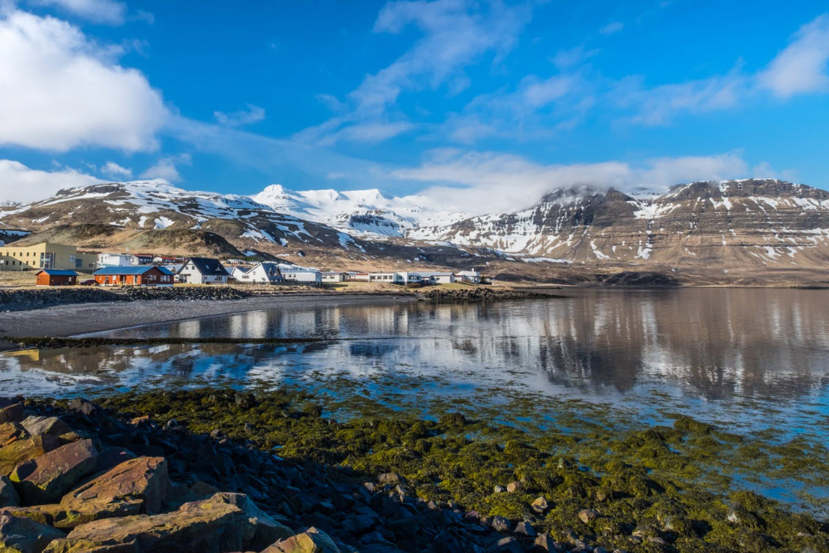
<svg viewBox="0 0 829 553">
<path fill-rule="evenodd" d="M 241 551 L 248 519 L 239 507 L 205 500 L 160 515 L 108 518 L 77 526 L 47 553 L 221 553 Z"/>
</svg>

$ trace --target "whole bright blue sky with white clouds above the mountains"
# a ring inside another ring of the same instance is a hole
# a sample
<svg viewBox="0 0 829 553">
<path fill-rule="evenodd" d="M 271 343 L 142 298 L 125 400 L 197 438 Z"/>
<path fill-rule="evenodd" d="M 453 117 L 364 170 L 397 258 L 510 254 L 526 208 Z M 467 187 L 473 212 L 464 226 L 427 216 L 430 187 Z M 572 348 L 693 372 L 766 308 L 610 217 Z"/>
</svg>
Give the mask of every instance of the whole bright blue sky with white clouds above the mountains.
<svg viewBox="0 0 829 553">
<path fill-rule="evenodd" d="M 0 0 L 0 201 L 165 178 L 521 206 L 829 187 L 825 2 Z"/>
</svg>

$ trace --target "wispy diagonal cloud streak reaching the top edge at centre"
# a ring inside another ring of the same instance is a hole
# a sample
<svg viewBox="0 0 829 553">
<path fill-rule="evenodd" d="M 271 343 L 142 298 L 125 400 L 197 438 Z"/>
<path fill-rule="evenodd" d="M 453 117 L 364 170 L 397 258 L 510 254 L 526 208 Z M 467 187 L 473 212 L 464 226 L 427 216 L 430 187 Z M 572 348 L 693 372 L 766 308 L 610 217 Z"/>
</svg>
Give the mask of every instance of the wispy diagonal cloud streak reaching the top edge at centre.
<svg viewBox="0 0 829 553">
<path fill-rule="evenodd" d="M 473 0 L 388 2 L 377 17 L 375 32 L 400 33 L 406 27 L 416 27 L 423 36 L 390 65 L 367 75 L 346 101 L 338 103 L 330 96 L 324 97 L 341 113 L 305 129 L 297 138 L 313 143 L 366 138 L 380 141 L 405 132 L 411 125 L 402 124 L 405 115 L 395 108 L 401 94 L 441 86 L 446 86 L 449 94 L 457 94 L 469 85 L 463 68 L 487 53 L 493 54 L 493 63 L 502 60 L 515 45 L 529 15 L 526 7 L 506 7 L 501 2 L 486 4 L 483 9 Z M 352 125 L 364 129 L 342 132 Z M 383 132 L 366 133 L 365 129 L 372 129 L 366 125 L 375 125 L 374 129 Z"/>
</svg>

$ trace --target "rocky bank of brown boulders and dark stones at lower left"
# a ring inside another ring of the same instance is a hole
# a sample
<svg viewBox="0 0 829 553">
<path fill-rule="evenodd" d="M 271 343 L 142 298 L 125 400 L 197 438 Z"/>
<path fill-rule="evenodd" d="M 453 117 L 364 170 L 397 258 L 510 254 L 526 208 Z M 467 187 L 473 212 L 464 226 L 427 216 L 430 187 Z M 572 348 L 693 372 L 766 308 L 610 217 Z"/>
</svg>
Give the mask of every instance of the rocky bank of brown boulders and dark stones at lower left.
<svg viewBox="0 0 829 553">
<path fill-rule="evenodd" d="M 255 408 L 253 396 L 239 398 Z M 538 542 L 528 524 L 424 502 L 395 473 L 361 484 L 347 469 L 288 463 L 218 430 L 119 420 L 86 400 L 21 417 L 41 434 L 6 423 L 0 551 L 526 553 Z"/>
</svg>

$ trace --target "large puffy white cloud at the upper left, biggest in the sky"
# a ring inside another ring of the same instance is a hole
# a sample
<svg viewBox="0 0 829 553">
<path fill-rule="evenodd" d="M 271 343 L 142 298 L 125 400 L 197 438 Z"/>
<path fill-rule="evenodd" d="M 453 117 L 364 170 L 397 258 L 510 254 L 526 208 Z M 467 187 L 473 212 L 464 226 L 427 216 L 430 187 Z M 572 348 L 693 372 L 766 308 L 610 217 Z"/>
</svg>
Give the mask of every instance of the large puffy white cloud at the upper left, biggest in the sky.
<svg viewBox="0 0 829 553">
<path fill-rule="evenodd" d="M 0 15 L 0 144 L 153 150 L 167 119 L 157 90 L 78 27 L 21 11 Z"/>
</svg>

